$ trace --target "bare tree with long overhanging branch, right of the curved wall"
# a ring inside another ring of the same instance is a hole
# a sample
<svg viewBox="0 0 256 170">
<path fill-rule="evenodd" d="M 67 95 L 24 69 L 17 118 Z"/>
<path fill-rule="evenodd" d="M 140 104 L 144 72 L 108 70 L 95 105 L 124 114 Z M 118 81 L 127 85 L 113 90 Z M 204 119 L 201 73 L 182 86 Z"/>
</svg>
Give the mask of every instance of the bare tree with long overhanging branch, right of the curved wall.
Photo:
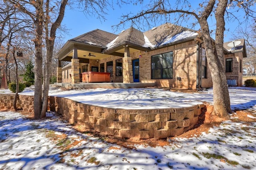
<svg viewBox="0 0 256 170">
<path fill-rule="evenodd" d="M 144 0 L 135 0 L 134 3 L 143 3 Z M 117 26 L 126 22 L 132 24 L 162 22 L 182 22 L 189 17 L 196 19 L 200 25 L 200 36 L 206 49 L 206 57 L 213 81 L 213 101 L 214 110 L 211 115 L 212 121 L 229 120 L 232 113 L 230 108 L 230 97 L 228 93 L 227 80 L 224 70 L 223 38 L 225 30 L 225 12 L 227 8 L 238 8 L 245 11 L 245 16 L 254 15 L 251 10 L 255 0 L 205 0 L 199 3 L 199 7 L 194 10 L 188 0 L 178 0 L 173 3 L 170 0 L 154 0 L 145 5 L 146 10 L 142 10 L 136 15 L 123 16 L 122 21 Z M 232 14 L 227 17 L 232 17 Z M 216 20 L 215 43 L 211 38 L 208 19 L 213 17 Z M 233 15 L 234 16 L 234 15 Z M 196 22 L 192 25 L 195 25 Z"/>
</svg>

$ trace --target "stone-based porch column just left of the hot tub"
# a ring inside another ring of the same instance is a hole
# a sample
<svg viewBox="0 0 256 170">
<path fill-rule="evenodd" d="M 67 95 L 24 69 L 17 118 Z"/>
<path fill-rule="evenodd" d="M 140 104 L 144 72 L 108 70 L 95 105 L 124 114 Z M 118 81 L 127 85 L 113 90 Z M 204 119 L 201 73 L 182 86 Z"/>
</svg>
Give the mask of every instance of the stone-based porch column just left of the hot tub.
<svg viewBox="0 0 256 170">
<path fill-rule="evenodd" d="M 74 45 L 73 58 L 71 59 L 71 83 L 80 83 L 79 75 L 79 59 L 77 55 L 77 47 Z"/>
</svg>

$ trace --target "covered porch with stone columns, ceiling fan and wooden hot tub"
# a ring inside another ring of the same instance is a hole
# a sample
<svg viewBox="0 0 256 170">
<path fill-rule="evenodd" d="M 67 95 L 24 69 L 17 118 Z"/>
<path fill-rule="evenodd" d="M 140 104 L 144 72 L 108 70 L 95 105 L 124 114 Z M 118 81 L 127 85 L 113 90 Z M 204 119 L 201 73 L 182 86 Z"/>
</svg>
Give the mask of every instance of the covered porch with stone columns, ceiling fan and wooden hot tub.
<svg viewBox="0 0 256 170">
<path fill-rule="evenodd" d="M 118 37 L 120 36 L 102 30 L 94 30 L 68 40 L 56 55 L 58 58 L 57 83 L 140 82 L 139 63 L 133 63 L 130 53 L 147 51 L 150 48 L 136 46 Z M 109 61 L 110 59 L 112 61 Z M 64 67 L 63 61 L 70 63 Z M 64 68 L 66 72 L 63 71 Z M 106 73 L 110 75 L 109 80 L 106 79 Z M 96 79 L 92 79 L 92 76 L 96 75 L 105 76 L 105 78 L 102 81 L 95 81 Z M 68 81 L 64 81 L 67 78 Z"/>
</svg>

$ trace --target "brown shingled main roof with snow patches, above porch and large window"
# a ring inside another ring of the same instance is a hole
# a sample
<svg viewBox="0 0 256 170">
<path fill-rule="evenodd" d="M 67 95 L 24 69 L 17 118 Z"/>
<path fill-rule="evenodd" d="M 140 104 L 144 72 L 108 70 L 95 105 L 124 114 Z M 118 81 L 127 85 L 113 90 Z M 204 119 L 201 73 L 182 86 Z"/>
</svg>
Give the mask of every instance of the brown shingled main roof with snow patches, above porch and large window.
<svg viewBox="0 0 256 170">
<path fill-rule="evenodd" d="M 131 27 L 118 35 L 96 29 L 70 41 L 96 45 L 104 48 L 105 51 L 124 44 L 153 49 L 169 43 L 194 38 L 197 35 L 194 30 L 166 23 L 146 32 Z"/>
</svg>

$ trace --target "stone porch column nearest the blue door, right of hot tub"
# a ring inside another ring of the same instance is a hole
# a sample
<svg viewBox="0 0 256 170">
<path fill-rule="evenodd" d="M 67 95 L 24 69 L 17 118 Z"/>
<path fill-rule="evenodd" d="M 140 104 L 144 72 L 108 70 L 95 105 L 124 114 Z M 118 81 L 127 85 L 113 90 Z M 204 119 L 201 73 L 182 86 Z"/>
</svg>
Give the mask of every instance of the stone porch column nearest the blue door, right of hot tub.
<svg viewBox="0 0 256 170">
<path fill-rule="evenodd" d="M 130 57 L 130 50 L 127 45 L 124 46 L 123 83 L 133 83 L 132 58 Z"/>
</svg>

